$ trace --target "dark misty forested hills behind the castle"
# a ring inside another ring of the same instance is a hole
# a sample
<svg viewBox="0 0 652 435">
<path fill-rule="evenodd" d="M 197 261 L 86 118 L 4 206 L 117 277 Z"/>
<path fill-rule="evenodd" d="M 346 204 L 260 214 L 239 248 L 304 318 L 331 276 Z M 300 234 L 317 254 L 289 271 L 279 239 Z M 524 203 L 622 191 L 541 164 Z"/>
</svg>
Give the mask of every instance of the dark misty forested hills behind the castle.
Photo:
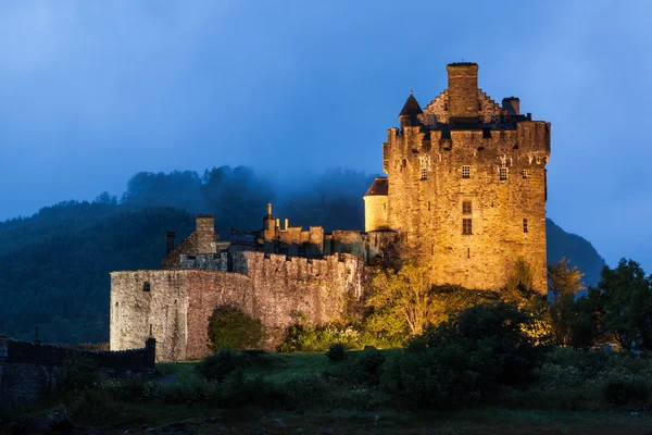
<svg viewBox="0 0 652 435">
<path fill-rule="evenodd" d="M 43 341 L 106 341 L 111 271 L 158 269 L 164 234 L 177 240 L 195 213 L 214 213 L 218 232 L 260 229 L 267 202 L 296 225 L 363 229 L 362 196 L 374 175 L 328 171 L 299 187 L 273 185 L 247 167 L 171 174 L 139 173 L 118 199 L 46 207 L 0 223 L 0 333 Z M 589 285 L 604 260 L 584 238 L 548 221 L 548 257 L 570 258 Z"/>
</svg>

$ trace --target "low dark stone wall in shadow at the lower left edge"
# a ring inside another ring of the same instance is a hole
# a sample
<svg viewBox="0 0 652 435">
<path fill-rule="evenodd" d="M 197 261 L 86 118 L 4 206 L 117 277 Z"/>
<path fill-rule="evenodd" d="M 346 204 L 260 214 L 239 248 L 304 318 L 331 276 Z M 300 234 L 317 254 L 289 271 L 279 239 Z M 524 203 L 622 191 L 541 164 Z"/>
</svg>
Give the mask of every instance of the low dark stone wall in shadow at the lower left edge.
<svg viewBox="0 0 652 435">
<path fill-rule="evenodd" d="M 147 343 L 146 343 L 147 341 Z M 18 341 L 0 336 L 0 409 L 27 403 L 54 391 L 63 382 L 66 360 L 93 361 L 105 373 L 149 372 L 154 369 L 155 340 L 141 349 L 120 352 L 78 350 Z"/>
</svg>

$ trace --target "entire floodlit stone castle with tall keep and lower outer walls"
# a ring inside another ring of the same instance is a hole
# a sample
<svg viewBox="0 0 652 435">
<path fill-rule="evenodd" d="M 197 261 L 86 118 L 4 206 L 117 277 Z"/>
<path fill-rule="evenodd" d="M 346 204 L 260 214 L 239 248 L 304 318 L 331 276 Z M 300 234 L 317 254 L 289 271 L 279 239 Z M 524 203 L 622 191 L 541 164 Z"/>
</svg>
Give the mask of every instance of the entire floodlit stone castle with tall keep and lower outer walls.
<svg viewBox="0 0 652 435">
<path fill-rule="evenodd" d="M 364 196 L 365 231 L 304 231 L 273 215 L 258 232 L 216 234 L 197 215 L 180 244 L 166 234 L 159 271 L 111 274 L 111 349 L 138 347 L 150 325 L 160 361 L 206 355 L 208 319 L 234 304 L 261 319 L 274 347 L 299 318 L 342 320 L 364 272 L 397 252 L 428 266 L 434 284 L 503 286 L 517 259 L 547 291 L 546 164 L 550 123 L 499 105 L 478 88 L 478 65 L 447 66 L 448 89 L 422 109 L 408 97 L 387 132 L 383 170 Z"/>
</svg>

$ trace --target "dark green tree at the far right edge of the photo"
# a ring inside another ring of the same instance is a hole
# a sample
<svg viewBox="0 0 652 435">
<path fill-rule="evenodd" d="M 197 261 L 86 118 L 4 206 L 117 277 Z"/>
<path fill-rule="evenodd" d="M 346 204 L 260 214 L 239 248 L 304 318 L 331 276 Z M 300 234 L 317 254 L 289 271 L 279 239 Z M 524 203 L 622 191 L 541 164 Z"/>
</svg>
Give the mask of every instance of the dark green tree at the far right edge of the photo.
<svg viewBox="0 0 652 435">
<path fill-rule="evenodd" d="M 598 285 L 604 303 L 604 327 L 628 350 L 652 349 L 652 276 L 634 260 L 604 266 Z"/>
</svg>

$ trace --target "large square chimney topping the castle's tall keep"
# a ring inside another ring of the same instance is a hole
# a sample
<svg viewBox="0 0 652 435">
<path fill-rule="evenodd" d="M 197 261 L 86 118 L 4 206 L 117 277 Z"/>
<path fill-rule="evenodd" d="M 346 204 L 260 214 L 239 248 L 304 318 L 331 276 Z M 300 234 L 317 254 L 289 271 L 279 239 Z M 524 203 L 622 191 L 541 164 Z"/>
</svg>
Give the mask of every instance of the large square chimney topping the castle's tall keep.
<svg viewBox="0 0 652 435">
<path fill-rule="evenodd" d="M 446 70 L 449 76 L 449 117 L 477 121 L 479 114 L 477 63 L 449 63 Z"/>
</svg>

